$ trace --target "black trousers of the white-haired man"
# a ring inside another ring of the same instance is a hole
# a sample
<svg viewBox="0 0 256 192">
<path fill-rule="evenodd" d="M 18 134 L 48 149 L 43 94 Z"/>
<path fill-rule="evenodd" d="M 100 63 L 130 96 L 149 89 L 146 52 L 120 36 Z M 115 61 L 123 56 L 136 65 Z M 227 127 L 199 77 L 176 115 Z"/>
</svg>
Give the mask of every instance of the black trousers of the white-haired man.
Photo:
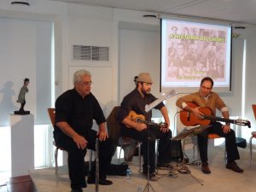
<svg viewBox="0 0 256 192">
<path fill-rule="evenodd" d="M 68 153 L 68 173 L 71 181 L 71 188 L 86 187 L 84 177 L 84 156 L 86 148 L 96 149 L 96 131 L 90 130 L 86 136 L 83 136 L 87 141 L 85 149 L 79 149 L 71 137 L 67 137 L 64 133 L 55 134 L 55 143 L 60 148 L 67 150 Z M 110 139 L 104 142 L 99 142 L 99 177 L 106 179 L 109 165 L 113 156 L 113 144 Z M 91 167 L 91 177 L 96 177 L 96 166 Z"/>
</svg>

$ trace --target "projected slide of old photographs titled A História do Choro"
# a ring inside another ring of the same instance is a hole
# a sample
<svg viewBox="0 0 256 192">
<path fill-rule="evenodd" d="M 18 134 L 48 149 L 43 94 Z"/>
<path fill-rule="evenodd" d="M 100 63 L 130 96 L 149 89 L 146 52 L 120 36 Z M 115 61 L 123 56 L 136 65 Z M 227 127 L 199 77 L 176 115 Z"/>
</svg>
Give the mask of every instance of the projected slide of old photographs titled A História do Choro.
<svg viewBox="0 0 256 192">
<path fill-rule="evenodd" d="M 166 40 L 162 44 L 162 84 L 191 86 L 206 76 L 220 85 L 227 84 L 229 27 L 168 20 L 162 30 L 166 31 L 162 32 Z"/>
</svg>

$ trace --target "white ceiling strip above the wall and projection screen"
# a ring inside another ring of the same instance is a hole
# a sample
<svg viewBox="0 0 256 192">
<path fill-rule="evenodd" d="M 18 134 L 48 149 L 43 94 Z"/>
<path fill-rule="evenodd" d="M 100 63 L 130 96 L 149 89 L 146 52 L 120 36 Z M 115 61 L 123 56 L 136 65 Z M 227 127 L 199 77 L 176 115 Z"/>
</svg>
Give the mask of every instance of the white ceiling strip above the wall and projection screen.
<svg viewBox="0 0 256 192">
<path fill-rule="evenodd" d="M 233 26 L 256 26 L 256 0 L 51 0 L 160 15 L 187 15 L 230 21 Z"/>
</svg>

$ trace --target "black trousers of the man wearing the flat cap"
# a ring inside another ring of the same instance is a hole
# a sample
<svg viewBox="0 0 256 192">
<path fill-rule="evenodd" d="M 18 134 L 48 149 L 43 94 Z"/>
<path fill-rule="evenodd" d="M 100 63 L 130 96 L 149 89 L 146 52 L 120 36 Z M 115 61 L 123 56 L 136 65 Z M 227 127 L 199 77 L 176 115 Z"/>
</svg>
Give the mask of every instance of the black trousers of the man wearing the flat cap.
<svg viewBox="0 0 256 192">
<path fill-rule="evenodd" d="M 171 138 L 172 131 L 163 133 L 156 126 L 150 126 L 149 129 L 137 131 L 133 128 L 122 126 L 121 136 L 131 137 L 143 143 L 143 171 L 147 172 L 148 157 L 149 157 L 149 172 L 155 172 L 155 140 L 159 141 L 159 163 L 166 163 L 172 160 L 171 151 Z M 148 139 L 149 138 L 149 139 Z M 149 150 L 148 150 L 149 148 Z"/>
</svg>

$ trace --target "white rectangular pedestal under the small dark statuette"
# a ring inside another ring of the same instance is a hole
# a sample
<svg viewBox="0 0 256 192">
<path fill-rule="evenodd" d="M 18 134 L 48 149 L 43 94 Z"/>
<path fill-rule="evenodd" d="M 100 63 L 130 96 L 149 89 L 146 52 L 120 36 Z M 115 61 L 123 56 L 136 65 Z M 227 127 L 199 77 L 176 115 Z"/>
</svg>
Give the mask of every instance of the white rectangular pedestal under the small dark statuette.
<svg viewBox="0 0 256 192">
<path fill-rule="evenodd" d="M 11 176 L 34 169 L 34 115 L 10 114 Z"/>
</svg>

